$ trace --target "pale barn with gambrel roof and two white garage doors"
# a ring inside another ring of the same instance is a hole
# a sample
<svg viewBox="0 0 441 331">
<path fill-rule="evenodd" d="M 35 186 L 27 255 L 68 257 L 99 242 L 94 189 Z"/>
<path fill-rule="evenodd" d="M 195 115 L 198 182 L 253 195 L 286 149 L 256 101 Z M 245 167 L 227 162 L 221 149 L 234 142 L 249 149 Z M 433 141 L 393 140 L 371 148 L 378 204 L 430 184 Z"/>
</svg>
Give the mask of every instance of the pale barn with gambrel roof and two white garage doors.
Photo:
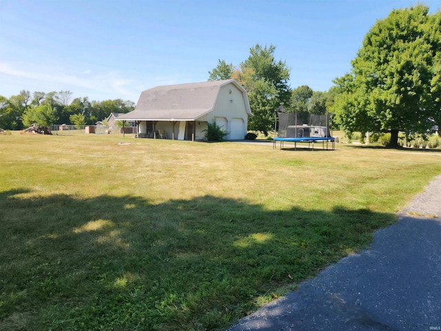
<svg viewBox="0 0 441 331">
<path fill-rule="evenodd" d="M 247 91 L 228 79 L 145 90 L 135 109 L 118 120 L 134 121 L 138 137 L 201 141 L 213 121 L 227 132 L 225 139 L 244 139 L 252 116 Z"/>
</svg>

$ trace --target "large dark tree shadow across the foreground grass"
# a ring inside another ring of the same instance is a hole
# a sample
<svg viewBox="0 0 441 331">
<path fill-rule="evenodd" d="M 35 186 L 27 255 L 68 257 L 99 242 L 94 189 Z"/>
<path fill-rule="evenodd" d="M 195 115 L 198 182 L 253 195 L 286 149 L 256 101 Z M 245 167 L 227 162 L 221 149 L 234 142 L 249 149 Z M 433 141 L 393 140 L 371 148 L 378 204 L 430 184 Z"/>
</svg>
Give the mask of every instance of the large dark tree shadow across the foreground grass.
<svg viewBox="0 0 441 331">
<path fill-rule="evenodd" d="M 0 193 L 0 329 L 215 330 L 365 247 L 393 214 Z"/>
</svg>

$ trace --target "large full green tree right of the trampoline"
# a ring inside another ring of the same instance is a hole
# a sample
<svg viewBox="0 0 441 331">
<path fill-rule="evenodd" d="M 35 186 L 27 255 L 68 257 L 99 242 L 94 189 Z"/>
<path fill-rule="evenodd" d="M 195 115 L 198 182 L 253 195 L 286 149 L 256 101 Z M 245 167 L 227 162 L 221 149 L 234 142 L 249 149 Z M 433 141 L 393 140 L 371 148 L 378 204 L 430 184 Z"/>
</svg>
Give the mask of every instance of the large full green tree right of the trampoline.
<svg viewBox="0 0 441 331">
<path fill-rule="evenodd" d="M 440 124 L 441 12 L 392 10 L 376 22 L 351 62 L 336 79 L 334 110 L 346 132 L 429 134 Z"/>
</svg>

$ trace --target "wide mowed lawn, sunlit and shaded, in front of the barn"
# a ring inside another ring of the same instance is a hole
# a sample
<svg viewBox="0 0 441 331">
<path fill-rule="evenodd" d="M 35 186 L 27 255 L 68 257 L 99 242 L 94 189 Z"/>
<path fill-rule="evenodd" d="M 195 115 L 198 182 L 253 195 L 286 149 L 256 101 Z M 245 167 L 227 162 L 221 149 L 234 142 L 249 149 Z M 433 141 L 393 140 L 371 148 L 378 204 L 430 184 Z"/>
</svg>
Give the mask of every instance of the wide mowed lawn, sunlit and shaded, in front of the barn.
<svg viewBox="0 0 441 331">
<path fill-rule="evenodd" d="M 0 330 L 226 328 L 438 174 L 440 150 L 0 136 Z"/>
</svg>

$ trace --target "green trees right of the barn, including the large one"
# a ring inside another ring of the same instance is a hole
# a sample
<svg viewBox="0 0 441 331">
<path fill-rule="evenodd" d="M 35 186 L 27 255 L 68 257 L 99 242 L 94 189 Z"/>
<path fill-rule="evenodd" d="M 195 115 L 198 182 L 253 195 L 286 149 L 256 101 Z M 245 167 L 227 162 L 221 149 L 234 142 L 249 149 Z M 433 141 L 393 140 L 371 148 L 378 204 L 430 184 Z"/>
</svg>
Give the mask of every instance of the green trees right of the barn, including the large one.
<svg viewBox="0 0 441 331">
<path fill-rule="evenodd" d="M 323 114 L 348 137 L 353 132 L 427 139 L 441 125 L 441 12 L 429 14 L 418 4 L 392 10 L 367 32 L 351 72 L 334 79 L 326 92 L 288 85 L 286 61 L 276 60 L 275 46 L 256 45 L 237 67 L 225 60 L 209 71 L 208 80 L 236 79 L 247 90 L 254 117 L 249 130 L 269 132 L 274 110 Z"/>
</svg>

